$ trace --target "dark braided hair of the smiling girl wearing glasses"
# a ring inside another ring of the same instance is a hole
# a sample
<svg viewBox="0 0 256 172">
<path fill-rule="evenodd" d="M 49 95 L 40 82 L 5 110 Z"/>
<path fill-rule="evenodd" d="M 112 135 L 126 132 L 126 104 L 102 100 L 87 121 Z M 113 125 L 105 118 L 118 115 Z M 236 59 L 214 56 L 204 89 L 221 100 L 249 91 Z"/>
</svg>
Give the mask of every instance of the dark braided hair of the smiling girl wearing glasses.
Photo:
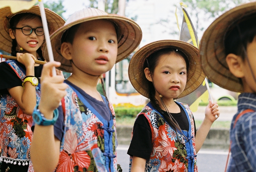
<svg viewBox="0 0 256 172">
<path fill-rule="evenodd" d="M 33 13 L 19 13 L 19 14 L 16 14 L 13 17 L 11 17 L 10 20 L 9 20 L 10 28 L 14 29 L 16 27 L 16 25 L 18 24 L 18 22 L 20 22 L 21 20 L 34 19 L 34 18 L 37 18 L 37 17 L 39 17 L 40 20 L 41 20 L 40 16 L 35 15 Z M 16 39 L 12 39 L 12 47 L 11 47 L 11 55 L 12 56 L 16 56 L 16 54 L 18 53 L 18 51 L 16 51 L 16 48 L 17 48 L 17 41 L 16 41 Z M 37 54 L 41 58 L 41 60 L 44 61 L 43 53 L 42 53 L 41 48 L 38 48 Z"/>
</svg>

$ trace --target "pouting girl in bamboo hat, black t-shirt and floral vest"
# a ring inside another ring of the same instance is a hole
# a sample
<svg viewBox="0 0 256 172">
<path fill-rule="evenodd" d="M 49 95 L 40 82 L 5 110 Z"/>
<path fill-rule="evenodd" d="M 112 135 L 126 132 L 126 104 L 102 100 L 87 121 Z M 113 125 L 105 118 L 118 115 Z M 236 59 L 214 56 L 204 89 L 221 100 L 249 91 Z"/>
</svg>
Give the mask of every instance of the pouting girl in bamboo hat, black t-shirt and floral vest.
<svg viewBox="0 0 256 172">
<path fill-rule="evenodd" d="M 196 133 L 190 108 L 174 99 L 203 82 L 200 65 L 198 49 L 178 40 L 152 42 L 133 55 L 129 79 L 150 102 L 134 123 L 129 171 L 197 171 L 196 154 L 219 116 L 218 104 L 209 102 Z"/>
</svg>

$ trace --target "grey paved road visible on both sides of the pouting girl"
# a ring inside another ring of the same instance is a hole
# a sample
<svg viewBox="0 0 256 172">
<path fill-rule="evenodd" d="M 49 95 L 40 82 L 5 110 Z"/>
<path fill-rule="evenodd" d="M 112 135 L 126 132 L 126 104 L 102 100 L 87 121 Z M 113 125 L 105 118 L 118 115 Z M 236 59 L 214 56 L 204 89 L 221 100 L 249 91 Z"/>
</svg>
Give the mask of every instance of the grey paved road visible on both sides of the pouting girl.
<svg viewBox="0 0 256 172">
<path fill-rule="evenodd" d="M 129 145 L 118 145 L 117 163 L 123 172 L 129 171 Z M 201 149 L 197 154 L 198 172 L 222 172 L 225 170 L 228 150 Z"/>
</svg>

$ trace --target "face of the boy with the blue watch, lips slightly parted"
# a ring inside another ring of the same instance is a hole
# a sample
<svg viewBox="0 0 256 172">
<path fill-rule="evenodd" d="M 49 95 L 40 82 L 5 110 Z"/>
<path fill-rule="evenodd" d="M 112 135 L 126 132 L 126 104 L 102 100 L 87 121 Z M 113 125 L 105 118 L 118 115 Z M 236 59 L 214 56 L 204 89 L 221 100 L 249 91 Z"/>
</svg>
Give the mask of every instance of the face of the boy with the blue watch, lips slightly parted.
<svg viewBox="0 0 256 172">
<path fill-rule="evenodd" d="M 117 34 L 112 22 L 104 19 L 81 23 L 71 45 L 73 71 L 101 75 L 117 58 Z M 80 70 L 74 70 L 79 68 Z"/>
</svg>

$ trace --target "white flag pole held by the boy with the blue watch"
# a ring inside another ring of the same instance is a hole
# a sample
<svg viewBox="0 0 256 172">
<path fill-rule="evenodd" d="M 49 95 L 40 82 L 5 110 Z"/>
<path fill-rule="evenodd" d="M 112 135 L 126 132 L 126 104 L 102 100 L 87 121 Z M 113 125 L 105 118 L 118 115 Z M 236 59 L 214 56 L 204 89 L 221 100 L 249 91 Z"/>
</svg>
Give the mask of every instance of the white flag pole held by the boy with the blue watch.
<svg viewBox="0 0 256 172">
<path fill-rule="evenodd" d="M 47 25 L 47 20 L 46 20 L 46 14 L 44 11 L 43 0 L 38 0 L 38 2 L 39 2 L 40 13 L 41 13 L 43 29 L 44 29 L 44 38 L 46 39 L 46 46 L 47 46 L 47 50 L 48 50 L 49 61 L 53 62 L 54 58 L 53 58 L 53 52 L 52 52 L 52 45 L 50 42 L 50 35 L 49 35 L 49 30 L 48 30 L 48 25 Z M 56 76 L 55 67 L 52 68 L 52 75 Z"/>
</svg>

